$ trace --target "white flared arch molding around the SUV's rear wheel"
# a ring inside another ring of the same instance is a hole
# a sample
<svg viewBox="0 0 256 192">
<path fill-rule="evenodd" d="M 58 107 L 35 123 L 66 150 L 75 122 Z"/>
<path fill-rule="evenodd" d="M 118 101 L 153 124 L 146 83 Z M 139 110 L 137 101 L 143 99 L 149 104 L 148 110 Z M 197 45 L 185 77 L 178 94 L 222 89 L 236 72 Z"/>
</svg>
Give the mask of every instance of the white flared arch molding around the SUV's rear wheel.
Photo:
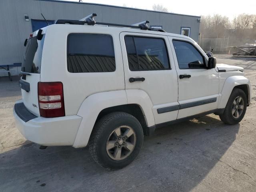
<svg viewBox="0 0 256 192">
<path fill-rule="evenodd" d="M 116 90 L 92 94 L 86 98 L 77 113 L 82 117 L 82 121 L 73 147 L 85 147 L 96 120 L 109 112 L 127 112 L 140 121 L 142 128 L 153 126 L 155 121 L 152 102 L 148 94 L 141 90 L 131 92 L 131 94 L 133 95 L 129 97 L 126 90 Z"/>
</svg>

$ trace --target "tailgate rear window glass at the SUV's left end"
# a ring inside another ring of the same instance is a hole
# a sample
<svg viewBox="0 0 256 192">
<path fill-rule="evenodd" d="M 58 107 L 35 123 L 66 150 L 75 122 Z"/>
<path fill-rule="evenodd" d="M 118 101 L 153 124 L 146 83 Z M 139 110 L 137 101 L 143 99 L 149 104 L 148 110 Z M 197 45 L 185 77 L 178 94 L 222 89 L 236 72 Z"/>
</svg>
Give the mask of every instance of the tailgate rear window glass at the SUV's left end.
<svg viewBox="0 0 256 192">
<path fill-rule="evenodd" d="M 27 73 L 40 73 L 43 45 L 44 36 L 42 40 L 37 40 L 36 36 L 28 40 L 21 65 L 21 71 Z"/>
</svg>

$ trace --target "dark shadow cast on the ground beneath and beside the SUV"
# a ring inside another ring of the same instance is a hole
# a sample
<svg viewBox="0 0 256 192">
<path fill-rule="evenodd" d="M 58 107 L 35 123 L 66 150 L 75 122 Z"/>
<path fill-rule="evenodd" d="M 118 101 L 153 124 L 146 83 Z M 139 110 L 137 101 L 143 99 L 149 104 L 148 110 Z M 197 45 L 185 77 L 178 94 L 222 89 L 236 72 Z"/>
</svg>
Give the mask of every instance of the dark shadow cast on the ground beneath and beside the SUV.
<svg viewBox="0 0 256 192">
<path fill-rule="evenodd" d="M 225 125 L 210 115 L 160 128 L 153 136 L 145 136 L 132 164 L 115 171 L 98 166 L 87 148 L 40 150 L 38 144 L 26 142 L 0 154 L 0 189 L 189 191 L 200 184 L 232 145 L 239 126 Z"/>
</svg>

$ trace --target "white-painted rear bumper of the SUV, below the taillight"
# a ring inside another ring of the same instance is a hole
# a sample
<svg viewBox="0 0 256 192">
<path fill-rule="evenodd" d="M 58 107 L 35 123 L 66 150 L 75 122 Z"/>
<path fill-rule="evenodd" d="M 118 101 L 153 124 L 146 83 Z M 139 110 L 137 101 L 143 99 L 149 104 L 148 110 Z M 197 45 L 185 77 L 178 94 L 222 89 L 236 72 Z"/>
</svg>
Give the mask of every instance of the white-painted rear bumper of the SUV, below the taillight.
<svg viewBox="0 0 256 192">
<path fill-rule="evenodd" d="M 16 103 L 21 102 L 22 100 L 19 100 Z M 82 120 L 78 115 L 56 118 L 35 116 L 25 122 L 19 117 L 17 108 L 16 111 L 13 108 L 13 114 L 20 133 L 27 140 L 44 146 L 72 146 Z"/>
</svg>

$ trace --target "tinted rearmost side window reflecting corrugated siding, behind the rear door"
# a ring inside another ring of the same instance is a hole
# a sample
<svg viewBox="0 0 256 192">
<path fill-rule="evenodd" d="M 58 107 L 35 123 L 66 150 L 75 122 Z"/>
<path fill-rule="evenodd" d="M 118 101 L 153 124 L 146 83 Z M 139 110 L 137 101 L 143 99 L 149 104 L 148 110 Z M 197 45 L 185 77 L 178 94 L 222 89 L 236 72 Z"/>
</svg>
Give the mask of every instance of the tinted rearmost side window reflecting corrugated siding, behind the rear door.
<svg viewBox="0 0 256 192">
<path fill-rule="evenodd" d="M 113 39 L 110 35 L 69 34 L 67 54 L 68 71 L 71 73 L 116 70 Z"/>
</svg>

